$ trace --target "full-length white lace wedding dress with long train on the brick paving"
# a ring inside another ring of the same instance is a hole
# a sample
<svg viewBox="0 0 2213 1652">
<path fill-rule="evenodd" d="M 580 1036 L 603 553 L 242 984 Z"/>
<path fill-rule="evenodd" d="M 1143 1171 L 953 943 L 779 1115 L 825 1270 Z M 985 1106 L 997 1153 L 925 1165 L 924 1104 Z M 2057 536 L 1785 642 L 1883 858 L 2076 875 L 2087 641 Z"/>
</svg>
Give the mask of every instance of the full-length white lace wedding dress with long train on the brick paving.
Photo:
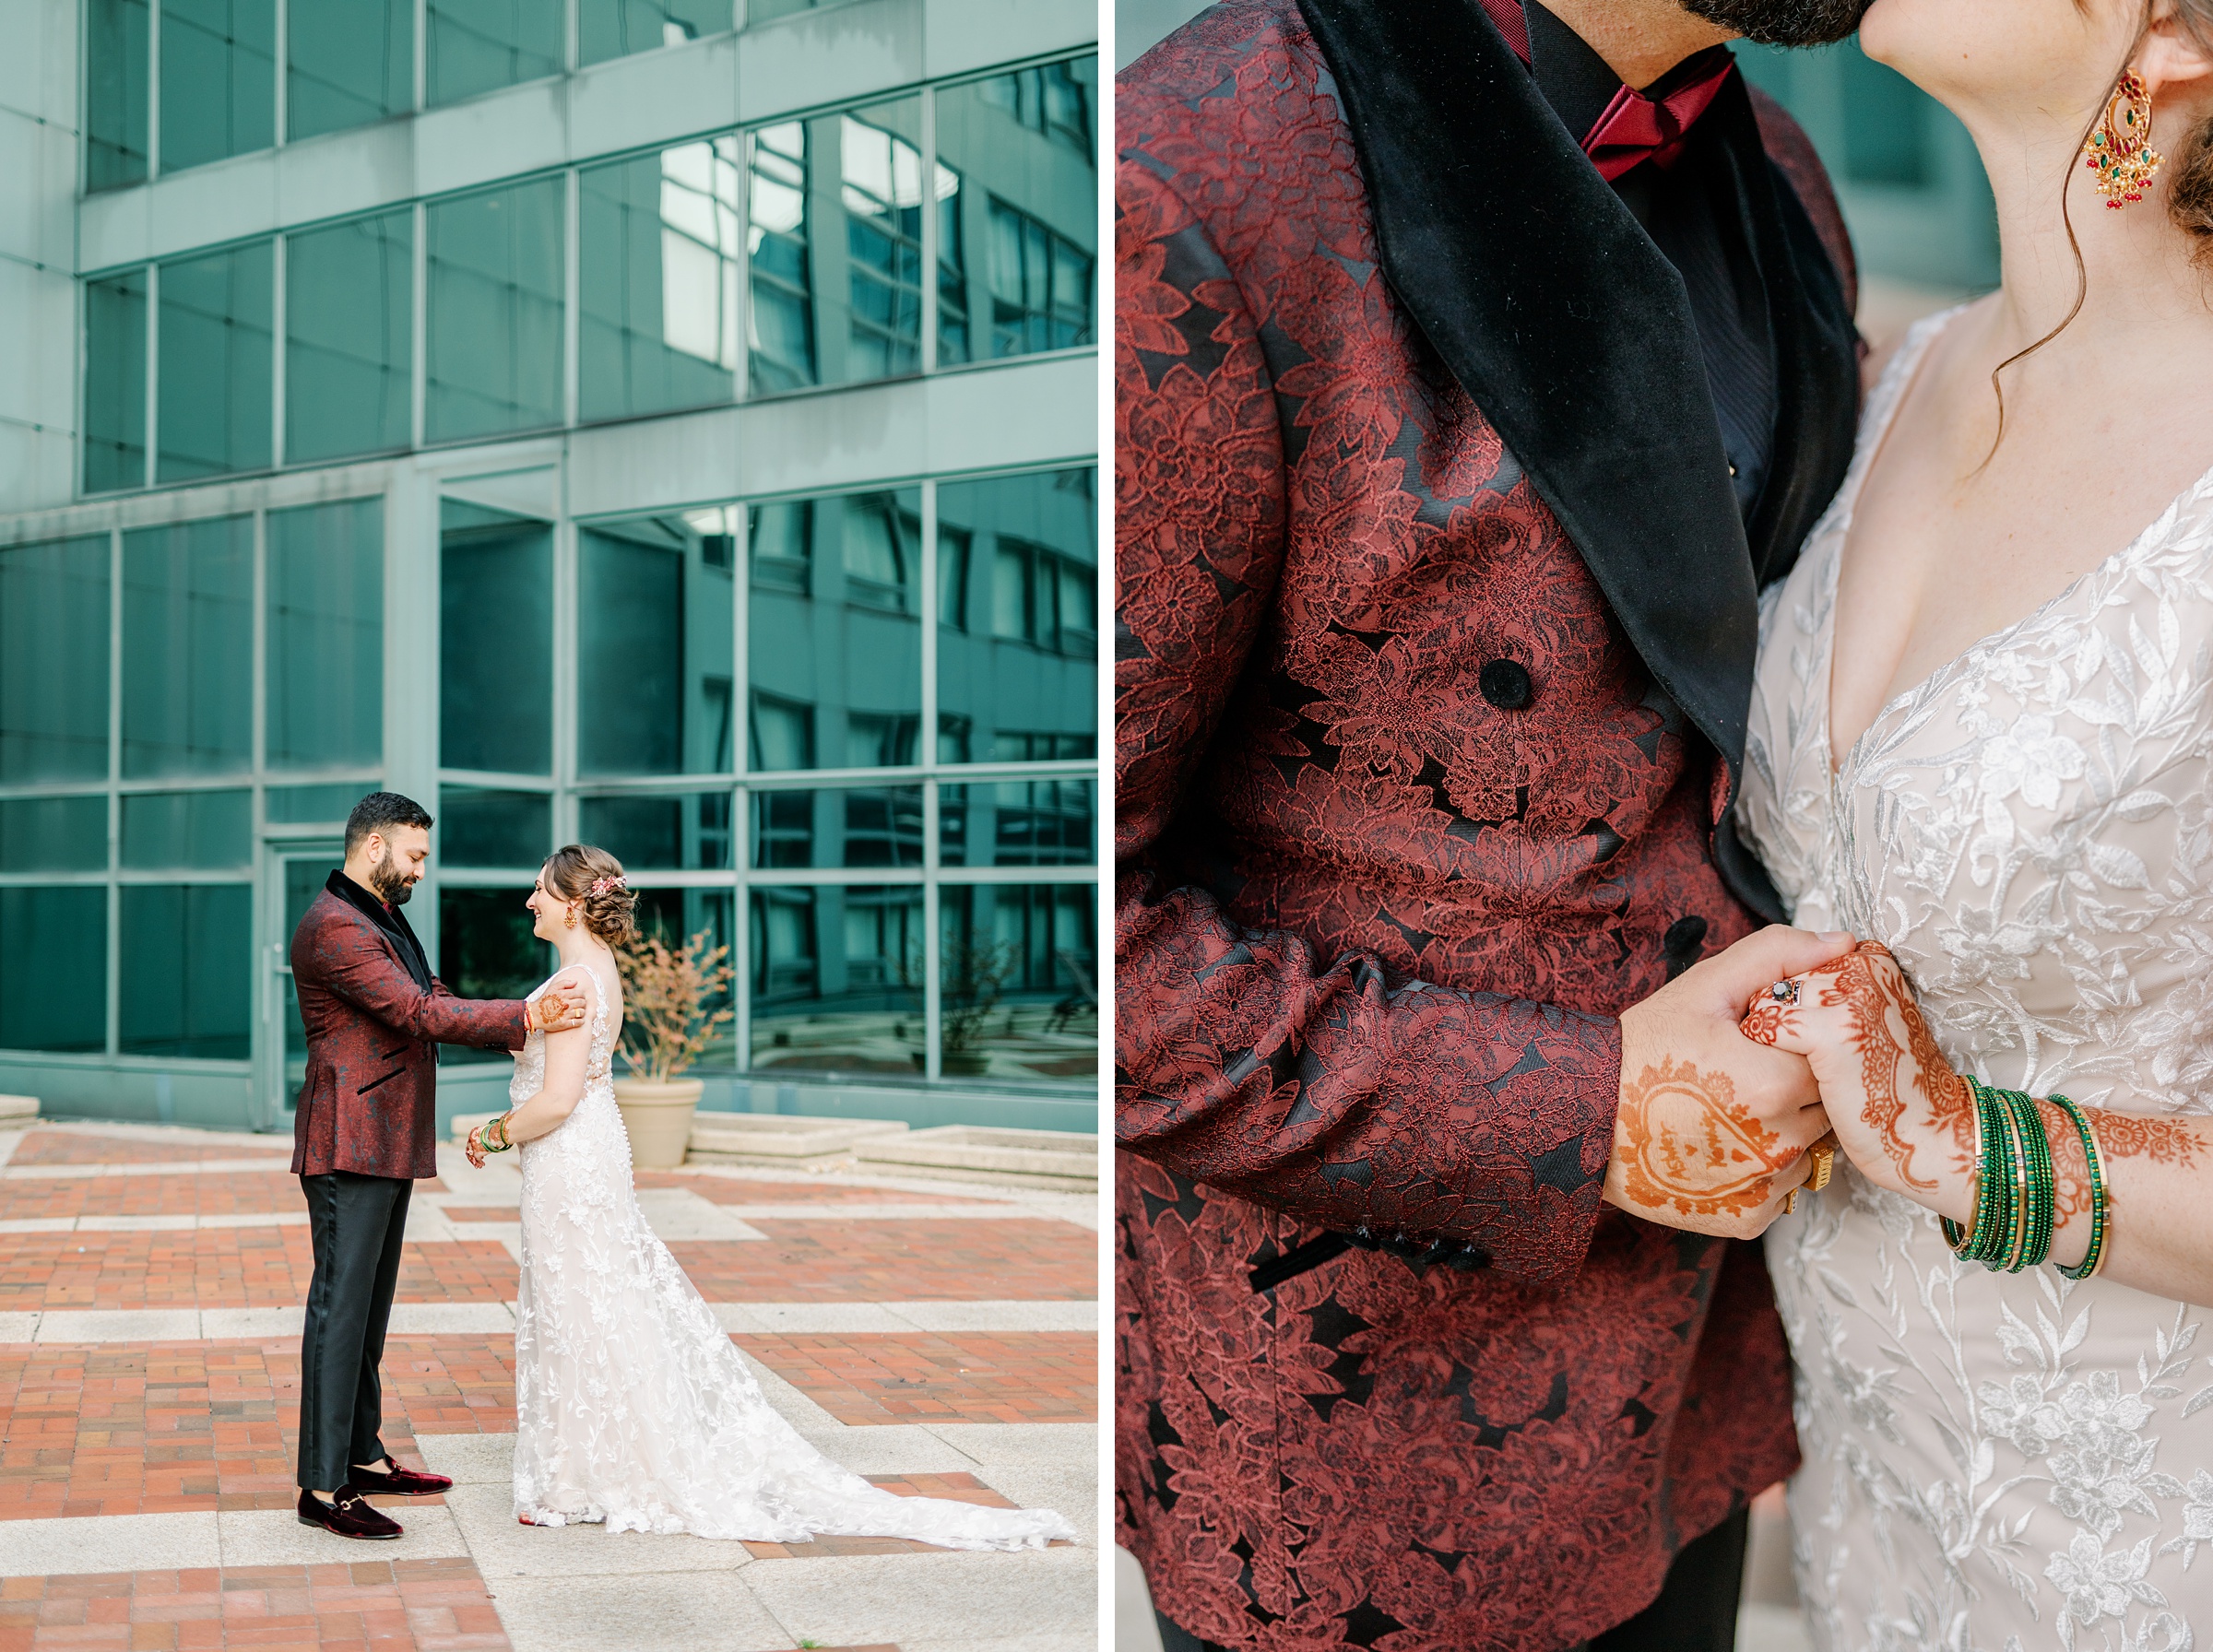
<svg viewBox="0 0 2213 1652">
<path fill-rule="evenodd" d="M 615 1108 L 617 1024 L 591 971 L 584 1099 L 520 1143 L 516 1515 L 538 1526 L 797 1544 L 817 1533 L 945 1548 L 1042 1548 L 1076 1537 L 1049 1508 L 898 1497 L 814 1451 L 779 1418 L 631 1190 Z M 531 997 L 542 993 L 540 986 Z M 509 1097 L 544 1088 L 544 1033 L 516 1055 Z"/>
</svg>

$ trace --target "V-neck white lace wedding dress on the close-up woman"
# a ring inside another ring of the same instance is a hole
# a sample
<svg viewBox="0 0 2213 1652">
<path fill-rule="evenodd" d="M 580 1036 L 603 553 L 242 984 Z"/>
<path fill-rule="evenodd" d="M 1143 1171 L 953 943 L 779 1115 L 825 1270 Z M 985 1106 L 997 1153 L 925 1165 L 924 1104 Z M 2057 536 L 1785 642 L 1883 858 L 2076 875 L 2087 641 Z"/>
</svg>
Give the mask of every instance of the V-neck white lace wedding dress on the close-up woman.
<svg viewBox="0 0 2213 1652">
<path fill-rule="evenodd" d="M 1830 774 L 1837 562 L 1930 341 L 1762 604 L 1742 825 L 1799 924 L 1890 947 L 1961 1070 L 2213 1110 L 2213 473 L 2025 619 L 1890 701 Z M 2127 1205 L 2116 1212 L 2124 1232 Z M 2206 1311 L 1954 1263 L 1850 1172 L 1768 1230 L 1797 1356 L 1815 1643 L 2184 1652 L 2213 1634 Z"/>
</svg>

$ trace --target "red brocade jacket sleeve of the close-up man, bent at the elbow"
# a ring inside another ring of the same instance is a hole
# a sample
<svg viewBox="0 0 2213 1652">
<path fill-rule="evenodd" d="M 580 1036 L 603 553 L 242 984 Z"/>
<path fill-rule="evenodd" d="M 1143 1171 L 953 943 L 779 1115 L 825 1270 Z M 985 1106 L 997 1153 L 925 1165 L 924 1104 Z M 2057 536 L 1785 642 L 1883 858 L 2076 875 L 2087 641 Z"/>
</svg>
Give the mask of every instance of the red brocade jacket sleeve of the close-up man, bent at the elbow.
<svg viewBox="0 0 2213 1652">
<path fill-rule="evenodd" d="M 1562 1278 L 1613 1152 L 1618 1022 L 1317 960 L 1155 860 L 1272 606 L 1286 467 L 1250 307 L 1135 161 L 1115 307 L 1118 1141 L 1299 1221 Z"/>
</svg>

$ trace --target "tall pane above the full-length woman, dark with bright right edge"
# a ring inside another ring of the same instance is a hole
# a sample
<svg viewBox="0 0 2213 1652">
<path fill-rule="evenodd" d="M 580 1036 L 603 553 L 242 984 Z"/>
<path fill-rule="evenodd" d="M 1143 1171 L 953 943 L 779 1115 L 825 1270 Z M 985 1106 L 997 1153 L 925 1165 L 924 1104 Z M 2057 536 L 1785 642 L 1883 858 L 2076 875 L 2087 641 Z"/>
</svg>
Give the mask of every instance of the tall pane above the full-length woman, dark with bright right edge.
<svg viewBox="0 0 2213 1652">
<path fill-rule="evenodd" d="M 728 774 L 737 511 L 637 517 L 578 535 L 578 767 Z"/>
</svg>

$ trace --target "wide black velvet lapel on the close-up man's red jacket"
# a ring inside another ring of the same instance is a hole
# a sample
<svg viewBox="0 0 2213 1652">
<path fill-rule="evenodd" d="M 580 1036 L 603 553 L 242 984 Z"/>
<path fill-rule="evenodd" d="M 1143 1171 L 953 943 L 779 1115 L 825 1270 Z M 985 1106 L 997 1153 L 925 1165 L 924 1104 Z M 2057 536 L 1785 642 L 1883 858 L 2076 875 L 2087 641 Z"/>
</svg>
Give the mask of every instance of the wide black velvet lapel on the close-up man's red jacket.
<svg viewBox="0 0 2213 1652">
<path fill-rule="evenodd" d="M 1392 292 L 1735 785 L 1759 641 L 1755 571 L 1773 579 L 1797 555 L 1843 480 L 1857 407 L 1841 285 L 1766 161 L 1742 80 L 1691 146 L 1720 146 L 1737 168 L 1768 287 L 1779 405 L 1750 540 L 1682 276 L 1480 4 L 1299 0 L 1299 11 L 1337 82 Z M 1715 847 L 1737 893 L 1773 913 L 1757 862 L 1733 838 Z"/>
</svg>

